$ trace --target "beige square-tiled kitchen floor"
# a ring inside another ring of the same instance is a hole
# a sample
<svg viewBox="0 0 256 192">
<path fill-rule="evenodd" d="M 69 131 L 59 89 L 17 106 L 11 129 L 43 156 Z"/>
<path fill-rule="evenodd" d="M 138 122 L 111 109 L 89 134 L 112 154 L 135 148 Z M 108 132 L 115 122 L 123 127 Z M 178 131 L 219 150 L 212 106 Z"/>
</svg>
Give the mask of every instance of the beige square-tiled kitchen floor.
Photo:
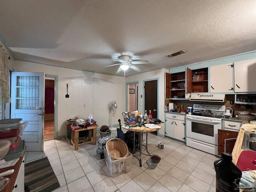
<svg viewBox="0 0 256 192">
<path fill-rule="evenodd" d="M 111 136 L 116 137 L 116 132 Z M 159 142 L 164 149 L 157 148 Z M 44 152 L 26 152 L 25 163 L 47 156 L 60 183 L 54 192 L 216 191 L 213 162 L 218 157 L 153 134 L 148 134 L 148 144 L 148 151 L 162 158 L 156 168 L 148 169 L 146 155 L 140 167 L 135 152 L 130 172 L 114 178 L 108 176 L 105 160 L 96 156 L 97 145 L 86 144 L 75 151 L 66 139 L 45 141 Z"/>
</svg>

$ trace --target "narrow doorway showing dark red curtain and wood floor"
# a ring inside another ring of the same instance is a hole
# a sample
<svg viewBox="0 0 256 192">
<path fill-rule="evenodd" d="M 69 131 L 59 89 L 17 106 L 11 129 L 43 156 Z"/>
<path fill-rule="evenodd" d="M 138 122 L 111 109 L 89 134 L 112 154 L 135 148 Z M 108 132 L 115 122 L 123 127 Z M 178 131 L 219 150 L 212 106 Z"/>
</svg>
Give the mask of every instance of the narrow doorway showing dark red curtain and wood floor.
<svg viewBox="0 0 256 192">
<path fill-rule="evenodd" d="M 44 141 L 54 139 L 54 78 L 45 78 Z"/>
</svg>

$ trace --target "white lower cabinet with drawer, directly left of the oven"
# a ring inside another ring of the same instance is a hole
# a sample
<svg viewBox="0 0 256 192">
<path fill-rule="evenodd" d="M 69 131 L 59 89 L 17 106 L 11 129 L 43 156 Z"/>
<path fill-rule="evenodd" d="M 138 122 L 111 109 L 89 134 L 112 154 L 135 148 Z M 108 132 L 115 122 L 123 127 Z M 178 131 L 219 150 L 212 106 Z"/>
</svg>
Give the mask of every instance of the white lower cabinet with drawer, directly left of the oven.
<svg viewBox="0 0 256 192">
<path fill-rule="evenodd" d="M 185 116 L 166 114 L 165 135 L 180 141 L 185 141 Z"/>
</svg>

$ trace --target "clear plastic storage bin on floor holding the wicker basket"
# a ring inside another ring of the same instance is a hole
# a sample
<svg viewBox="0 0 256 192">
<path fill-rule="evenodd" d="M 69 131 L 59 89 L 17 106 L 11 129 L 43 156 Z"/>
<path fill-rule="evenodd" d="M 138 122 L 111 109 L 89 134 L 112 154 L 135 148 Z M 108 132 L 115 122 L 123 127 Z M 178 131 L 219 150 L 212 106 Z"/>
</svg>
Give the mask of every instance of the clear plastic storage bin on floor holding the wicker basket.
<svg viewBox="0 0 256 192">
<path fill-rule="evenodd" d="M 111 157 L 106 151 L 104 146 L 104 158 L 110 172 L 111 177 L 119 176 L 120 174 L 127 173 L 131 170 L 132 166 L 132 154 L 129 152 L 128 156 L 118 160 L 111 160 Z"/>
</svg>

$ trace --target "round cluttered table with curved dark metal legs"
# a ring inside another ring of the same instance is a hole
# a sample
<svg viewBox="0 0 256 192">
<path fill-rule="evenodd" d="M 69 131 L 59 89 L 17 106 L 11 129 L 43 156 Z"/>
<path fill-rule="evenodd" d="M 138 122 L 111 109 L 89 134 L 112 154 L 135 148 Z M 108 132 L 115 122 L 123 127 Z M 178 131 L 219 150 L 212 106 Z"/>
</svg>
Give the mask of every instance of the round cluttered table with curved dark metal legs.
<svg viewBox="0 0 256 192">
<path fill-rule="evenodd" d="M 160 128 L 162 128 L 162 124 L 159 123 L 157 124 Z M 145 127 L 145 126 L 136 126 L 136 127 L 126 127 L 126 126 L 122 126 L 122 128 L 124 128 L 125 130 L 128 130 L 128 131 L 132 131 L 134 132 L 134 137 L 133 137 L 133 140 L 134 140 L 134 143 L 135 143 L 135 132 L 139 133 L 140 134 L 140 167 L 142 167 L 142 134 L 146 133 L 146 152 L 148 153 L 148 155 L 152 156 L 152 154 L 150 154 L 148 152 L 148 132 L 154 132 L 154 131 L 157 131 L 159 130 L 160 128 L 148 128 L 148 127 Z M 135 149 L 135 145 L 134 145 L 134 149 Z M 133 150 L 134 151 L 134 150 Z"/>
</svg>

